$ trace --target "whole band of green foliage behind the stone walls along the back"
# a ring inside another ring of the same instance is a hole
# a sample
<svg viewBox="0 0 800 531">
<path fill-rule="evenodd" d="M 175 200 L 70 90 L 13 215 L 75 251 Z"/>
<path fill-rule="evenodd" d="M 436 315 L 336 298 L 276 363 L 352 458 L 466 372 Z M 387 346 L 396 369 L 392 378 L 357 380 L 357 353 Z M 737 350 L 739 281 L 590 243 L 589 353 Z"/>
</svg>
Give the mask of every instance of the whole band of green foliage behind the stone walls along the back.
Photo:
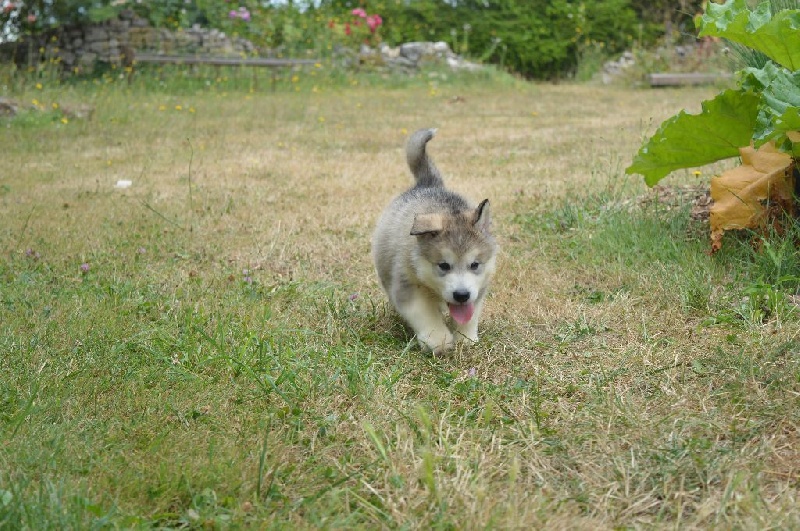
<svg viewBox="0 0 800 531">
<path fill-rule="evenodd" d="M 588 48 L 600 47 L 613 55 L 661 37 L 693 38 L 691 19 L 700 4 L 700 0 L 5 0 L 0 25 L 6 38 L 24 38 L 133 9 L 157 27 L 200 24 L 265 48 L 325 53 L 336 42 L 331 22 L 345 21 L 360 7 L 382 17 L 379 37 L 390 45 L 446 41 L 459 53 L 523 76 L 554 78 L 573 74 Z M 247 17 L 232 11 L 246 12 Z"/>
</svg>

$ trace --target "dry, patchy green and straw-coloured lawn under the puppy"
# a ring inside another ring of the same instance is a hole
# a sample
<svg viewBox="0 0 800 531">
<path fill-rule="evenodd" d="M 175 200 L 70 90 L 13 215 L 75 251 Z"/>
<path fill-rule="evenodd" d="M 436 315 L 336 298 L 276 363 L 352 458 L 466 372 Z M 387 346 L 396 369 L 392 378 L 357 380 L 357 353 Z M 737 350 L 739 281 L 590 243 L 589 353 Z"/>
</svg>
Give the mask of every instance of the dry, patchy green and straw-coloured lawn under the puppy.
<svg viewBox="0 0 800 531">
<path fill-rule="evenodd" d="M 623 174 L 714 93 L 16 88 L 0 528 L 799 527 L 797 251 Z M 428 126 L 502 249 L 440 358 L 369 256 Z"/>
</svg>

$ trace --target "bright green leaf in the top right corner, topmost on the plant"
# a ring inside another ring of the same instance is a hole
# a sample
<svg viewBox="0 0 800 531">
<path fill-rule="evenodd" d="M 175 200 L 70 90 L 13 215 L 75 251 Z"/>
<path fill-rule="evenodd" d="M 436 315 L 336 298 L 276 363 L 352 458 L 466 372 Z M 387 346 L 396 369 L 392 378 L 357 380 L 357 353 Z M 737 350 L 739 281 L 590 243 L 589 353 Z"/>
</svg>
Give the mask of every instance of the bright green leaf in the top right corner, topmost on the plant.
<svg viewBox="0 0 800 531">
<path fill-rule="evenodd" d="M 774 16 L 769 2 L 755 10 L 746 0 L 709 2 L 700 19 L 700 36 L 723 37 L 758 50 L 789 70 L 800 70 L 800 10 L 786 9 Z"/>
</svg>

